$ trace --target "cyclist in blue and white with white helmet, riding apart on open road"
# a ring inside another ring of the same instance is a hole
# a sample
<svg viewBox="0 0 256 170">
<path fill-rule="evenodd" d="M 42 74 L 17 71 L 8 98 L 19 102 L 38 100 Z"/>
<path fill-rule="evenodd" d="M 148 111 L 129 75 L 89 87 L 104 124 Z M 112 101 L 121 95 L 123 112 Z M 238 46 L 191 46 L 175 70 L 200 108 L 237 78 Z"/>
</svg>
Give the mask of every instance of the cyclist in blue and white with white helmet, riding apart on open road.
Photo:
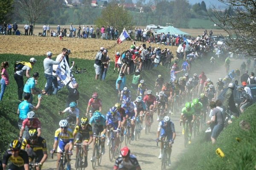
<svg viewBox="0 0 256 170">
<path fill-rule="evenodd" d="M 160 135 L 161 130 L 161 135 Z M 174 139 L 176 137 L 175 133 L 175 127 L 174 123 L 171 121 L 169 116 L 165 116 L 163 118 L 163 121 L 160 121 L 157 128 L 157 142 L 159 141 L 159 136 L 161 141 L 164 141 L 167 137 L 167 140 L 169 141 L 168 145 L 168 165 L 171 166 L 171 153 L 172 153 L 172 144 L 174 142 Z M 163 142 L 161 142 L 161 149 L 160 149 L 160 155 L 158 156 L 158 159 L 162 158 L 163 153 Z"/>
</svg>

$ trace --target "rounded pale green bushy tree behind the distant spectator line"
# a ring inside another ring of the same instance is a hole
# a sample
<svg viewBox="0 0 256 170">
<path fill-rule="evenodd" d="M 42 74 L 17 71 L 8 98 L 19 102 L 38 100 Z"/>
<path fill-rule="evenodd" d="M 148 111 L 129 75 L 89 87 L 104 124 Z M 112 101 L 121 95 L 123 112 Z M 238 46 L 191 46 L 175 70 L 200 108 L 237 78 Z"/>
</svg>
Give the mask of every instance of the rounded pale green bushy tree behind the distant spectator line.
<svg viewBox="0 0 256 170">
<path fill-rule="evenodd" d="M 116 3 L 109 3 L 102 10 L 102 16 L 96 19 L 95 24 L 99 28 L 102 26 L 113 26 L 119 33 L 123 28 L 127 30 L 132 28 L 132 17 L 125 8 L 118 6 Z"/>
</svg>

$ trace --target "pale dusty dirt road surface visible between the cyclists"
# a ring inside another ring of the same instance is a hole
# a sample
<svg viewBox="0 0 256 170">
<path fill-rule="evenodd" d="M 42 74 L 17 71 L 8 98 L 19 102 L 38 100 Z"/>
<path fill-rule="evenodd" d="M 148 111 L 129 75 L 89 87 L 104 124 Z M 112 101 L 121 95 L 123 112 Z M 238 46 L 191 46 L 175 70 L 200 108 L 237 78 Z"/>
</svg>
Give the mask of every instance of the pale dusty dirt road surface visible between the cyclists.
<svg viewBox="0 0 256 170">
<path fill-rule="evenodd" d="M 234 60 L 231 59 L 231 69 L 240 68 L 241 62 L 244 60 Z M 218 78 L 224 78 L 225 77 L 225 68 L 224 65 L 220 66 L 217 70 L 211 71 L 205 71 L 207 78 L 211 78 L 214 84 L 216 84 L 216 81 L 218 81 Z M 128 145 L 131 149 L 131 153 L 137 156 L 137 159 L 139 160 L 140 166 L 143 170 L 160 170 L 160 159 L 158 159 L 158 155 L 160 153 L 160 147 L 157 147 L 155 139 L 156 139 L 156 131 L 158 122 L 156 121 L 157 116 L 154 115 L 154 123 L 151 126 L 151 132 L 148 134 L 145 134 L 145 131 L 142 130 L 141 137 L 138 141 L 132 141 L 131 145 Z M 175 143 L 173 144 L 172 149 L 172 166 L 169 169 L 174 170 L 175 169 L 175 162 L 179 160 L 179 158 L 183 155 L 185 148 L 184 148 L 184 137 L 181 134 L 182 127 L 179 124 L 180 115 L 174 115 L 171 116 L 172 122 L 175 124 L 175 130 L 176 130 L 176 139 Z M 192 144 L 194 138 L 192 137 Z M 191 145 L 190 147 L 192 147 Z M 49 146 L 48 147 L 52 147 Z M 90 160 L 90 157 L 92 155 L 92 150 L 90 148 L 89 154 L 88 154 L 88 160 Z M 75 163 L 75 156 L 72 156 L 72 167 L 74 168 Z M 56 159 L 56 156 L 55 156 Z M 54 170 L 55 168 L 55 159 L 51 159 L 50 156 L 48 157 L 47 163 L 44 164 L 44 170 Z M 88 170 L 92 169 L 91 162 L 88 161 L 89 165 L 87 167 Z M 113 169 L 114 162 L 110 162 L 108 158 L 108 146 L 106 145 L 106 153 L 102 158 L 102 166 L 97 167 L 96 170 L 110 170 Z"/>
</svg>

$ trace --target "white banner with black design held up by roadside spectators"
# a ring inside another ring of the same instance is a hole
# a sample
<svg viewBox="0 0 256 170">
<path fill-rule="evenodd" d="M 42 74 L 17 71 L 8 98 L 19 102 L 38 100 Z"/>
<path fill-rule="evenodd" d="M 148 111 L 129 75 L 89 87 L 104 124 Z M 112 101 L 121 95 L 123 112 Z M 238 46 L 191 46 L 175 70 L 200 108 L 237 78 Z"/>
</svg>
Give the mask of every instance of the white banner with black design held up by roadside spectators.
<svg viewBox="0 0 256 170">
<path fill-rule="evenodd" d="M 70 88 L 73 88 L 73 84 L 76 83 L 76 79 L 73 77 L 73 74 L 70 70 L 69 65 L 67 64 L 67 60 L 65 57 L 62 59 L 61 63 L 59 63 L 58 68 L 56 70 L 56 74 L 64 83 L 64 85 L 67 85 L 67 83 L 70 81 L 72 77 L 73 79 L 72 82 L 70 82 L 69 86 Z"/>
</svg>

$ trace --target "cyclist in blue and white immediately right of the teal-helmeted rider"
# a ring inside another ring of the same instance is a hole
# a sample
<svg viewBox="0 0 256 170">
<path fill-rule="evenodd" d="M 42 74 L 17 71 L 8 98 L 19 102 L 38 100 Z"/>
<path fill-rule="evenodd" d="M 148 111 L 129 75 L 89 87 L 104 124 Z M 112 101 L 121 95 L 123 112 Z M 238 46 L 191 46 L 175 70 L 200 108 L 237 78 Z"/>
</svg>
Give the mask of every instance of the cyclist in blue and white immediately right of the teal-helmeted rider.
<svg viewBox="0 0 256 170">
<path fill-rule="evenodd" d="M 109 112 L 106 114 L 106 126 L 107 126 L 107 130 L 110 130 L 112 127 L 114 130 L 117 130 L 118 132 L 121 129 L 121 116 L 120 113 L 117 111 L 116 107 L 112 107 L 109 109 Z M 107 131 L 107 136 L 108 136 L 108 141 L 107 141 L 107 145 L 109 145 L 109 132 Z M 119 147 L 119 142 L 120 142 L 120 138 L 119 138 L 119 133 L 116 134 L 116 148 Z"/>
</svg>

